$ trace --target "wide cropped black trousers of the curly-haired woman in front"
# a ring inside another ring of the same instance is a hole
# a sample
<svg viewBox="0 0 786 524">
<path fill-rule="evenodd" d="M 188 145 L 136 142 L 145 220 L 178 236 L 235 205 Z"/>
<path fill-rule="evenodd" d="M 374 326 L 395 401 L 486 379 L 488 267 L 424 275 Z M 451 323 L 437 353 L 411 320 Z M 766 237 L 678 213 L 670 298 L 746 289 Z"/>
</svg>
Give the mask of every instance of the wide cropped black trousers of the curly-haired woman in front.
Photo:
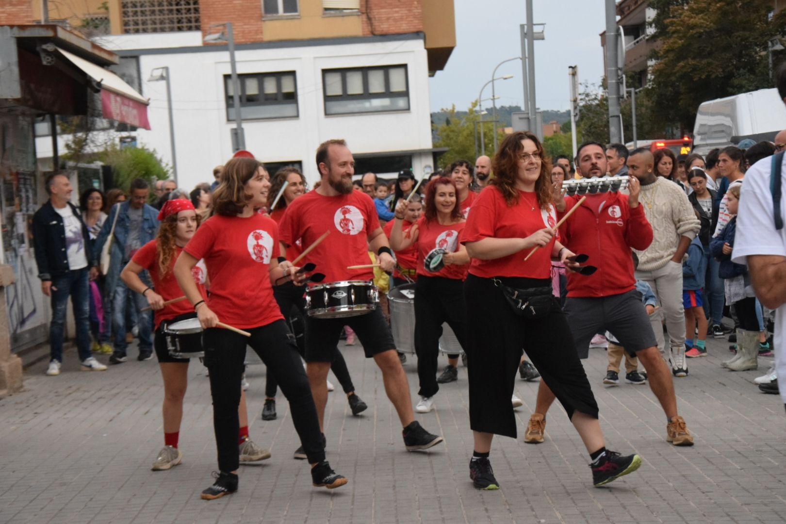
<svg viewBox="0 0 786 524">
<path fill-rule="evenodd" d="M 499 277 L 511 288 L 551 286 L 550 279 Z M 417 295 L 416 295 L 417 296 Z M 564 407 L 597 419 L 597 402 L 557 299 L 544 317 L 518 316 L 490 278 L 470 274 L 464 284 L 467 323 L 469 423 L 473 431 L 516 438 L 510 398 L 521 349 Z M 472 308 L 472 313 L 470 313 Z"/>
</svg>

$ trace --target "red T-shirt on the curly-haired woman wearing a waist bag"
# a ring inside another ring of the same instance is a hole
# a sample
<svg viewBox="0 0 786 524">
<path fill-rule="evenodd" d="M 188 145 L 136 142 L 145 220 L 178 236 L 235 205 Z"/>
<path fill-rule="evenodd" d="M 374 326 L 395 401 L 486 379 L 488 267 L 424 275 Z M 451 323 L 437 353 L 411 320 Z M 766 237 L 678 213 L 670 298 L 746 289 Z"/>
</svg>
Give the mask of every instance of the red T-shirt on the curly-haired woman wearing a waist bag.
<svg viewBox="0 0 786 524">
<path fill-rule="evenodd" d="M 481 192 L 469 214 L 461 243 L 476 242 L 484 238 L 524 238 L 545 227 L 556 225 L 553 207 L 546 212 L 538 207 L 534 192 L 519 191 L 519 203 L 508 207 L 505 197 L 496 187 Z M 477 277 L 551 277 L 551 252 L 556 237 L 545 247 L 535 251 L 524 262 L 531 247 L 502 258 L 480 260 L 472 258 L 469 273 Z"/>
</svg>

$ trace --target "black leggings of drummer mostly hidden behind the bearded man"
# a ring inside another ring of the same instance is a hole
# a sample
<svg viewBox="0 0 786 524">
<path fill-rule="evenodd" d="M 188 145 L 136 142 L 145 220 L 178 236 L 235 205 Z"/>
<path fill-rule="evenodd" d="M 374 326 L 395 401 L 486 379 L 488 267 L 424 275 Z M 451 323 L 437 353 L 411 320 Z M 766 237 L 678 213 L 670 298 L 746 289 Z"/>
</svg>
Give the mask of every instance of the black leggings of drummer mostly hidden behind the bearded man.
<svg viewBox="0 0 786 524">
<path fill-rule="evenodd" d="M 303 299 L 303 291 L 305 291 L 304 288 L 296 286 L 292 284 L 292 282 L 287 282 L 281 286 L 274 286 L 273 288 L 273 295 L 276 298 L 276 302 L 278 302 L 278 307 L 281 308 L 281 314 L 288 317 L 292 333 L 295 334 L 298 353 L 301 357 L 306 358 L 306 319 L 304 318 L 306 315 L 306 305 Z M 339 379 L 339 383 L 344 393 L 351 393 L 354 391 L 354 384 L 352 383 L 352 377 L 347 368 L 347 361 L 344 360 L 343 355 L 337 348 L 330 368 L 333 370 L 333 374 L 336 375 L 336 379 Z M 276 382 L 276 376 L 270 371 L 270 368 L 268 368 L 265 383 L 265 396 L 274 398 L 277 389 L 278 383 Z"/>
</svg>

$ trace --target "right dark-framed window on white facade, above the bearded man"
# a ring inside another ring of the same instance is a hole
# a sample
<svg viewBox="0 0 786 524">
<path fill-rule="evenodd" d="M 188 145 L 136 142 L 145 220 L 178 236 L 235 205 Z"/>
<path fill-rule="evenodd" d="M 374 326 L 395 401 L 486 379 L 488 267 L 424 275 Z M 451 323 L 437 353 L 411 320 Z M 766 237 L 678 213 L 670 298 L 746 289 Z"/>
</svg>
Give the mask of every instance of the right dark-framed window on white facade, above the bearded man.
<svg viewBox="0 0 786 524">
<path fill-rule="evenodd" d="M 322 82 L 325 115 L 410 109 L 406 65 L 324 69 Z"/>
</svg>

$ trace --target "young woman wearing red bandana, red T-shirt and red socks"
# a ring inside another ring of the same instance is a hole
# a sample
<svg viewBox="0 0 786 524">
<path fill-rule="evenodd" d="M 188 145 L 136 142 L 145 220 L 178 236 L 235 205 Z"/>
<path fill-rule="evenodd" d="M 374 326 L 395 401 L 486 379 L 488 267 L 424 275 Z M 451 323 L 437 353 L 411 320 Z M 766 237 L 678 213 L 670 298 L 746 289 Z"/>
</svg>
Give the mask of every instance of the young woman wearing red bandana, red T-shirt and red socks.
<svg viewBox="0 0 786 524">
<path fill-rule="evenodd" d="M 189 360 L 188 358 L 175 358 L 169 354 L 167 339 L 163 330 L 167 324 L 183 321 L 196 317 L 193 307 L 182 300 L 164 305 L 163 302 L 177 299 L 182 296 L 178 281 L 174 278 L 174 261 L 191 240 L 196 228 L 200 224 L 200 215 L 196 213 L 193 203 L 185 199 L 167 200 L 158 214 L 161 226 L 158 236 L 142 246 L 127 266 L 120 273 L 120 278 L 129 289 L 141 293 L 152 310 L 156 311 L 156 330 L 153 339 L 153 348 L 161 369 L 163 379 L 163 449 L 152 463 L 152 471 L 168 470 L 177 466 L 182 460 L 182 453 L 178 449 L 180 437 L 180 423 L 183 418 L 183 398 L 188 384 Z M 139 274 L 147 270 L 150 273 L 153 287 L 145 284 Z M 207 295 L 204 284 L 207 281 L 204 263 L 194 266 L 193 279 L 202 298 Z M 270 458 L 270 452 L 260 449 L 248 438 L 248 412 L 246 410 L 245 392 L 241 394 L 237 416 L 240 420 L 240 460 L 242 462 L 255 462 Z"/>
</svg>

